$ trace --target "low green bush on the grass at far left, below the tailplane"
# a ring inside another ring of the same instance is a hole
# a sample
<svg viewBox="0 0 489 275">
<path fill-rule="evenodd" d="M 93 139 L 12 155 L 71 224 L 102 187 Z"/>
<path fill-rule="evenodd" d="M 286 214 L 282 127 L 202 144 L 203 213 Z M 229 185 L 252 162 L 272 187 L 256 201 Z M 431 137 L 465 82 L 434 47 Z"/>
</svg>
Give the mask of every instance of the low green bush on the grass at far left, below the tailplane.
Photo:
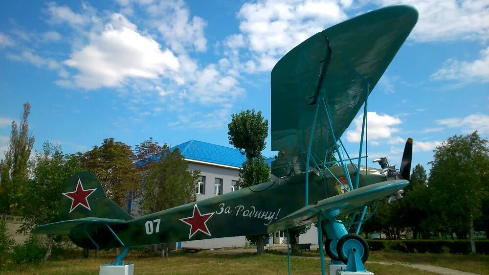
<svg viewBox="0 0 489 275">
<path fill-rule="evenodd" d="M 46 249 L 40 238 L 36 235 L 30 235 L 25 243 L 14 247 L 12 260 L 17 264 L 35 263 L 43 259 L 45 253 Z"/>
</svg>

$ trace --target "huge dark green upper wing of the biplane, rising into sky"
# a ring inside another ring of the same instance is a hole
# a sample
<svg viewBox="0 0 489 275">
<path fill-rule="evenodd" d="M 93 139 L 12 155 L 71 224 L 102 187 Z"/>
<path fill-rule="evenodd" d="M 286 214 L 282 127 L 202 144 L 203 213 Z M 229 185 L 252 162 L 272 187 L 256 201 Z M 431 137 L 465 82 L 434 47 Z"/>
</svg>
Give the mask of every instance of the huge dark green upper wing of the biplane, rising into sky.
<svg viewBox="0 0 489 275">
<path fill-rule="evenodd" d="M 381 8 L 323 30 L 299 44 L 271 72 L 271 145 L 285 152 L 272 174 L 305 170 L 307 146 L 321 159 L 348 128 L 418 20 L 411 6 Z M 317 108 L 319 106 L 319 109 Z M 312 121 L 318 110 L 315 125 Z M 298 157 L 293 160 L 294 157 Z"/>
</svg>

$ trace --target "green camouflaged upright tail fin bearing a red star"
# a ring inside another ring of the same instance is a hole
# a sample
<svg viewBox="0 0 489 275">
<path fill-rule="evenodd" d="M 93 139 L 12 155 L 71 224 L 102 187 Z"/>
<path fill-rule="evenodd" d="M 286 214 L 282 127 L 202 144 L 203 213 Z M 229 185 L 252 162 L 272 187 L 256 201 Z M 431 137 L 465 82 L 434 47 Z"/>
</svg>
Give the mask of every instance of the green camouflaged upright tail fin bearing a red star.
<svg viewBox="0 0 489 275">
<path fill-rule="evenodd" d="M 89 171 L 69 178 L 61 194 L 61 220 L 86 217 L 130 220 L 133 217 L 105 195 L 102 184 Z"/>
</svg>

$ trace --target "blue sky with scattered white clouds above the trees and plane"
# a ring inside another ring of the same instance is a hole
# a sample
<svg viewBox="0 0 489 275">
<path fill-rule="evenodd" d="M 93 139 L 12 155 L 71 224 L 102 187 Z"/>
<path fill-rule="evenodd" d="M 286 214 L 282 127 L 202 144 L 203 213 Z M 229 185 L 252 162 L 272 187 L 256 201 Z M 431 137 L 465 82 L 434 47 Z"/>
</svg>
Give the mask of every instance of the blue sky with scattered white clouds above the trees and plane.
<svg viewBox="0 0 489 275">
<path fill-rule="evenodd" d="M 36 150 L 149 137 L 231 147 L 231 114 L 270 120 L 270 71 L 291 48 L 399 3 L 420 18 L 369 97 L 369 162 L 399 166 L 411 137 L 413 166 L 426 166 L 450 136 L 489 136 L 489 0 L 1 1 L 0 158 L 24 102 Z M 350 155 L 361 119 L 342 137 Z M 268 137 L 263 155 L 275 153 Z"/>
</svg>

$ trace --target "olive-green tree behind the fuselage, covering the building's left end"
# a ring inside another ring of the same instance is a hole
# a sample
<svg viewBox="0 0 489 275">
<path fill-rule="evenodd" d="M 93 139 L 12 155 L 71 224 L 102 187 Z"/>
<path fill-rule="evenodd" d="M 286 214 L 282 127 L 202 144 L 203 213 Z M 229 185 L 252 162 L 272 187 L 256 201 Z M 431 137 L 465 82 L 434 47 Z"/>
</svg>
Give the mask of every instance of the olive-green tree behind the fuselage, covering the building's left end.
<svg viewBox="0 0 489 275">
<path fill-rule="evenodd" d="M 195 202 L 195 185 L 200 171 L 188 171 L 178 148 L 170 151 L 163 145 L 160 161 L 149 166 L 142 180 L 141 208 L 144 213 L 153 213 Z M 168 257 L 168 246 L 164 245 L 162 256 Z"/>
</svg>

